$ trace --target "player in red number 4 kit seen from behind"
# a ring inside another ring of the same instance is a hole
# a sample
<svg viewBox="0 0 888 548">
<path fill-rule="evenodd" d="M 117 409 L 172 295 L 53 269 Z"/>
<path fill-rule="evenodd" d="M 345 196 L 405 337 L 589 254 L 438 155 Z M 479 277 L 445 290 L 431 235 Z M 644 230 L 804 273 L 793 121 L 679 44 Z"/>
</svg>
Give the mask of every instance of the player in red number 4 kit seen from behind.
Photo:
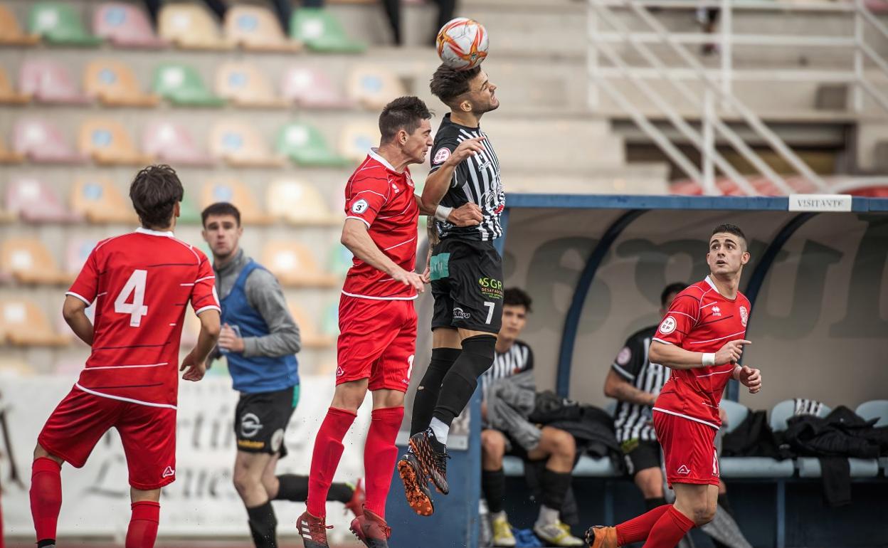
<svg viewBox="0 0 888 548">
<path fill-rule="evenodd" d="M 55 546 L 61 465 L 80 468 L 109 428 L 123 442 L 132 515 L 126 548 L 151 548 L 161 488 L 176 478 L 178 371 L 198 381 L 219 334 L 210 261 L 173 236 L 184 194 L 176 171 L 153 165 L 130 186 L 141 225 L 99 242 L 67 291 L 62 314 L 90 357 L 37 438 L 31 513 L 37 547 Z M 186 305 L 201 320 L 197 345 L 179 367 Z M 95 322 L 85 314 L 95 305 Z"/>
</svg>

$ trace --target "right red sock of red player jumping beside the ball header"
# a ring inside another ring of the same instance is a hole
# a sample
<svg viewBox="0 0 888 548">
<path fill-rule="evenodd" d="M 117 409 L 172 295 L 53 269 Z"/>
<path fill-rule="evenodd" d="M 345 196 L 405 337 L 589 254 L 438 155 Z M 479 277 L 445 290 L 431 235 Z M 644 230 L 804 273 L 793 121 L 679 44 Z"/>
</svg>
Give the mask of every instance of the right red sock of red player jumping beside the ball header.
<svg viewBox="0 0 888 548">
<path fill-rule="evenodd" d="M 373 409 L 370 417 L 370 430 L 364 445 L 364 473 L 367 475 L 364 507 L 385 520 L 385 499 L 392 486 L 394 463 L 398 457 L 394 441 L 404 419 L 404 408 Z"/>
</svg>

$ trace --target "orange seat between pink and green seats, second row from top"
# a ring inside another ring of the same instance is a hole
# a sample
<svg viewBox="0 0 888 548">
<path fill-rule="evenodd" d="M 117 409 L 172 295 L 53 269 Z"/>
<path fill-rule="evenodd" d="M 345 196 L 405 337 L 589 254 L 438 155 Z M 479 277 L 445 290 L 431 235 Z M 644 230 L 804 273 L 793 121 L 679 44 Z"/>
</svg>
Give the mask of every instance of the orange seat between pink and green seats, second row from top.
<svg viewBox="0 0 888 548">
<path fill-rule="evenodd" d="M 161 100 L 143 93 L 132 69 L 118 60 L 91 60 L 83 71 L 83 91 L 107 107 L 156 107 Z"/>
</svg>

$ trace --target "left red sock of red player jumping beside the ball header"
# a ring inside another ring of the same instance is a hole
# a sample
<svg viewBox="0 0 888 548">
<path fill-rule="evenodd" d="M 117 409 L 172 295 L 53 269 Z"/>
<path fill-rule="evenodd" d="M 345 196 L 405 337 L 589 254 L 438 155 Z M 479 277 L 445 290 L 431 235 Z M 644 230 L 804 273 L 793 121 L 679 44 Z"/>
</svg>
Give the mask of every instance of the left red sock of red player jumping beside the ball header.
<svg viewBox="0 0 888 548">
<path fill-rule="evenodd" d="M 314 517 L 327 516 L 327 492 L 345 449 L 342 439 L 352 426 L 354 417 L 357 415 L 351 411 L 331 407 L 321 423 L 321 430 L 314 438 L 312 468 L 308 476 L 308 500 L 305 501 L 308 513 Z"/>
</svg>

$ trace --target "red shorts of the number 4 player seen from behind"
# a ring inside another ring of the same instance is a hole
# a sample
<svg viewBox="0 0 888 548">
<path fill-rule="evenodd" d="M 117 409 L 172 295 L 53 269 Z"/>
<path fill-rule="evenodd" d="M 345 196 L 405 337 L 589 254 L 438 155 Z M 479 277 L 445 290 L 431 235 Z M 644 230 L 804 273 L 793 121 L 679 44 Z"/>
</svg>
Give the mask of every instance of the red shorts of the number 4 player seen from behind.
<svg viewBox="0 0 888 548">
<path fill-rule="evenodd" d="M 75 386 L 52 411 L 37 443 L 80 468 L 112 427 L 123 441 L 132 487 L 150 490 L 176 480 L 176 409 L 94 396 Z"/>
</svg>

